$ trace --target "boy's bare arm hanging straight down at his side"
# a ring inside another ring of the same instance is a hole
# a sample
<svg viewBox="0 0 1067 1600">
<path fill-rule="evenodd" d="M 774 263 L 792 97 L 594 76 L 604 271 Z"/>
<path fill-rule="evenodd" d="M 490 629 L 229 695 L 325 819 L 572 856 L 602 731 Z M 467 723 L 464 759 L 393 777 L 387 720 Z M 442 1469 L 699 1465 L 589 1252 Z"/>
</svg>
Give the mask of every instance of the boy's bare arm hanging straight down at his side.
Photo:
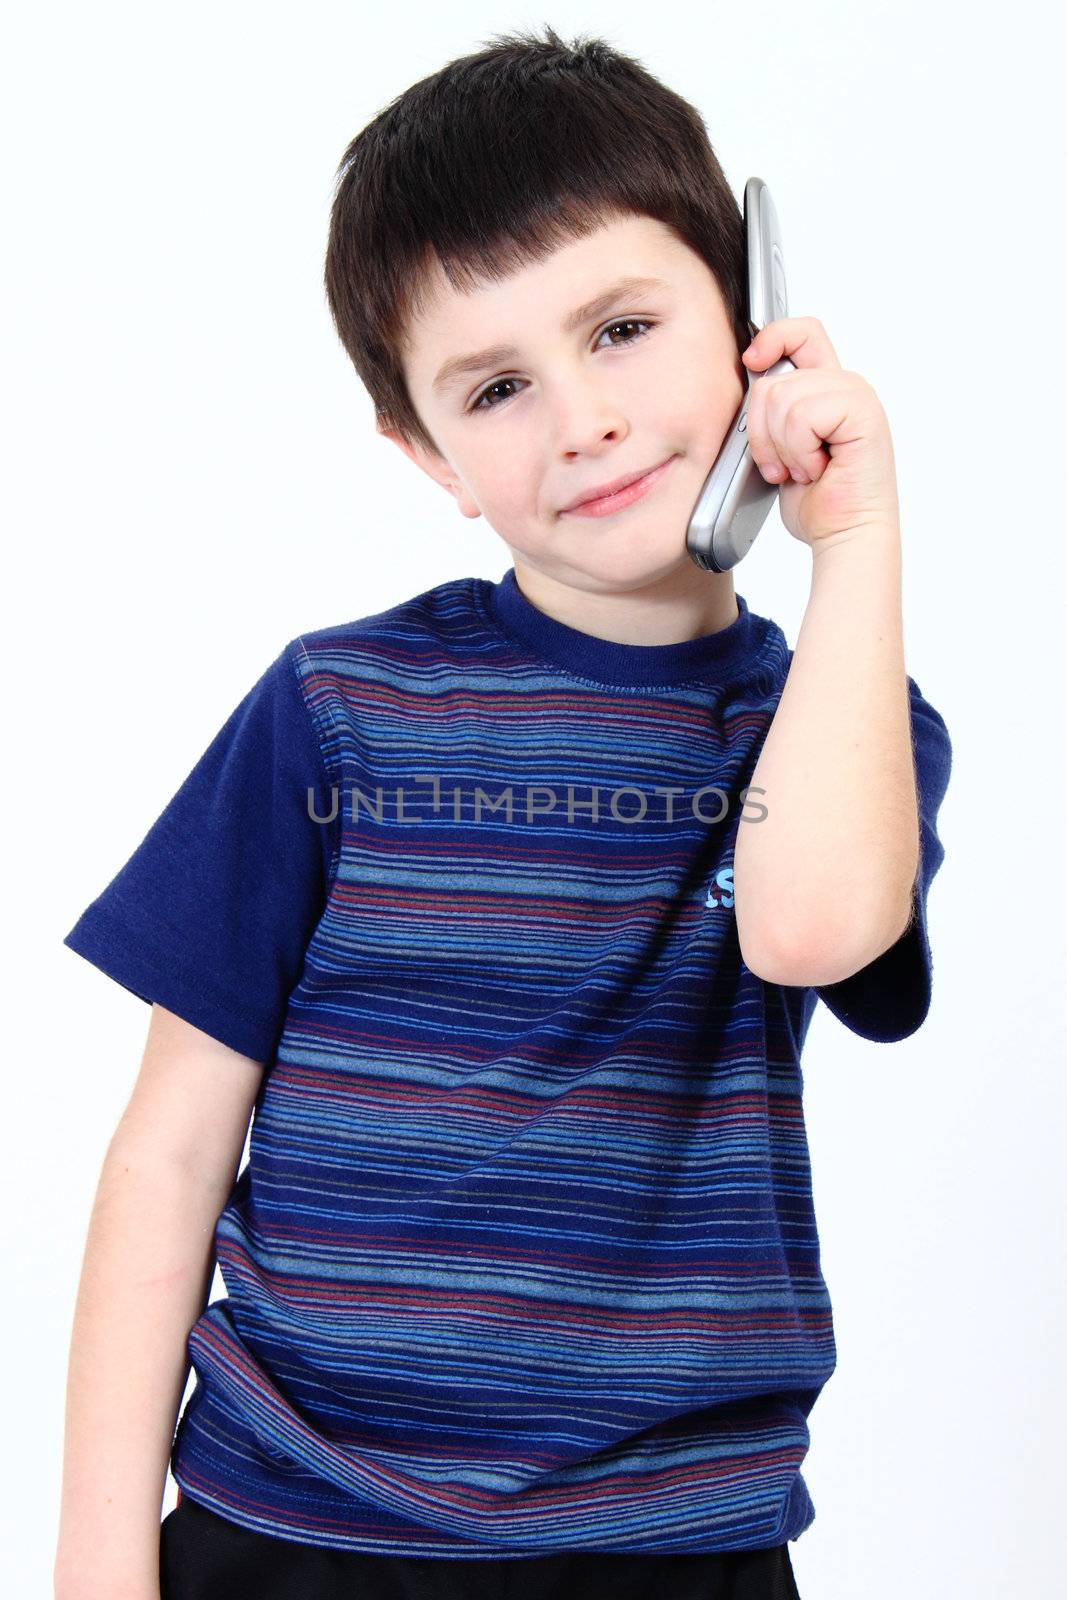
<svg viewBox="0 0 1067 1600">
<path fill-rule="evenodd" d="M 56 1600 L 158 1600 L 186 1341 L 208 1302 L 262 1062 L 160 1005 L 90 1219 L 74 1312 Z"/>
</svg>

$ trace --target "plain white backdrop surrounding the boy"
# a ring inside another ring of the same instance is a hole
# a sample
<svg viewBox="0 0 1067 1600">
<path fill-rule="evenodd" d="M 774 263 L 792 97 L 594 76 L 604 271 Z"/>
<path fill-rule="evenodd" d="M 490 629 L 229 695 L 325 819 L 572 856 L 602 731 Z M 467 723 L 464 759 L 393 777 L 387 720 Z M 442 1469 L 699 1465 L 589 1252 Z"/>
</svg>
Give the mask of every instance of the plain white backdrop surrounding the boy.
<svg viewBox="0 0 1067 1600">
<path fill-rule="evenodd" d="M 507 571 L 374 435 L 322 266 L 352 134 L 544 21 L 693 101 L 737 197 L 771 184 L 790 312 L 891 421 L 907 667 L 953 741 L 929 1019 L 873 1045 L 819 1008 L 805 1051 L 838 1368 L 800 1592 L 1057 1581 L 1062 86 L 1037 8 L 98 3 L 10 16 L 0 69 L 11 1594 L 51 1594 L 85 1229 L 149 1021 L 62 934 L 286 640 Z M 809 563 L 774 515 L 736 573 L 790 645 Z"/>
</svg>

